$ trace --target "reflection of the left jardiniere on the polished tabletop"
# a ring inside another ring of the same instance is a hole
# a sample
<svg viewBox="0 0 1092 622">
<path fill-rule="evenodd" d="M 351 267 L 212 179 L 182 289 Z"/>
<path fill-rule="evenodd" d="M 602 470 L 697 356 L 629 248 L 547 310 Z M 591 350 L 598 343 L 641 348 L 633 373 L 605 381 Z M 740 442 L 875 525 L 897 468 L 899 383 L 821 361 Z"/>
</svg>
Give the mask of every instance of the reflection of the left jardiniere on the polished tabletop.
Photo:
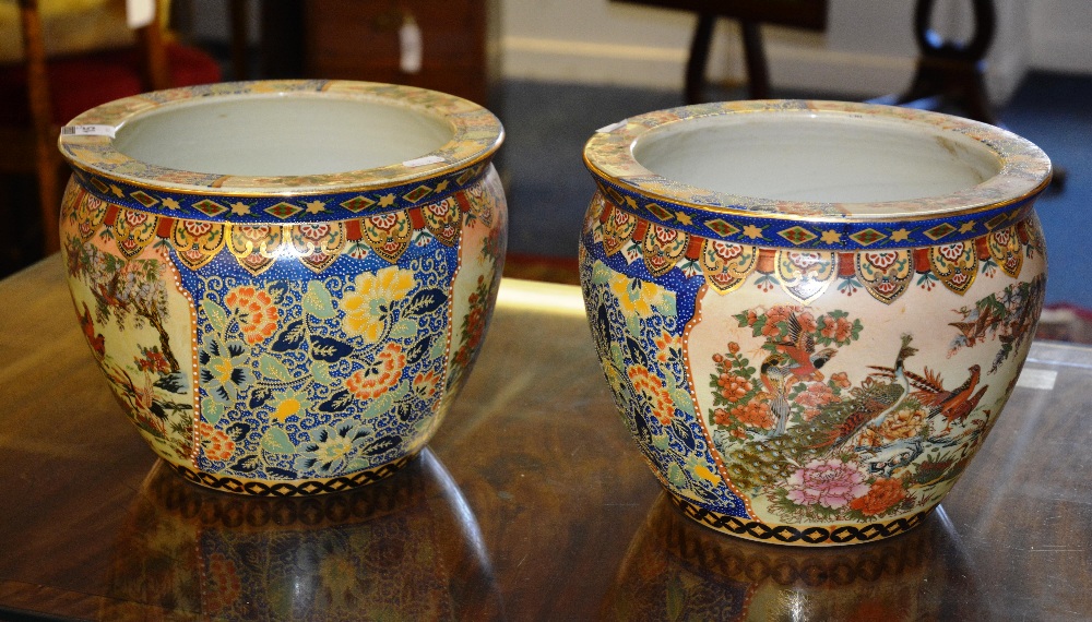
<svg viewBox="0 0 1092 622">
<path fill-rule="evenodd" d="M 200 489 L 159 463 L 118 534 L 112 600 L 99 614 L 497 618 L 488 554 L 459 487 L 427 448 L 405 471 L 343 494 L 266 499 Z"/>
</svg>

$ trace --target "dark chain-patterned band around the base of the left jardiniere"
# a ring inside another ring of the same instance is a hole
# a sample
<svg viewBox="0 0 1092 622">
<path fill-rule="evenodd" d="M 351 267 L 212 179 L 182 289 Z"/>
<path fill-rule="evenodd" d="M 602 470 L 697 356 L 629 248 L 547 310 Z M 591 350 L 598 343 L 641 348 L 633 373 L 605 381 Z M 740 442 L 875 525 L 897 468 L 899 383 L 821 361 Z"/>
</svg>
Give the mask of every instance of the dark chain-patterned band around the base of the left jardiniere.
<svg viewBox="0 0 1092 622">
<path fill-rule="evenodd" d="M 352 490 L 385 479 L 402 470 L 417 457 L 417 453 L 397 458 L 378 467 L 358 470 L 356 473 L 324 479 L 297 479 L 292 481 L 274 481 L 258 479 L 241 479 L 222 477 L 215 474 L 197 471 L 187 465 L 167 463 L 182 479 L 224 492 L 248 494 L 252 497 L 313 497 Z"/>
</svg>

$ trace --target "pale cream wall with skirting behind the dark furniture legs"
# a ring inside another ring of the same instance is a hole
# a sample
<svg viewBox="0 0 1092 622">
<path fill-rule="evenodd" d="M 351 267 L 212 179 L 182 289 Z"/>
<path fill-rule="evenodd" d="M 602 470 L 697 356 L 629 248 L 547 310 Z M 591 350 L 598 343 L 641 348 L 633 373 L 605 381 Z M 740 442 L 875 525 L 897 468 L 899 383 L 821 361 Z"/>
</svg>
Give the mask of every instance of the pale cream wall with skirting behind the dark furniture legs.
<svg viewBox="0 0 1092 622">
<path fill-rule="evenodd" d="M 608 0 L 499 0 L 501 71 L 506 76 L 680 88 L 695 17 Z M 994 0 L 997 34 L 986 85 L 1001 103 L 1030 68 L 1092 73 L 1092 2 Z M 829 0 L 823 34 L 765 28 L 775 86 L 865 98 L 909 86 L 917 49 L 914 2 Z M 936 3 L 934 27 L 963 39 L 970 2 Z M 710 56 L 711 80 L 743 77 L 738 33 L 721 20 Z"/>
</svg>

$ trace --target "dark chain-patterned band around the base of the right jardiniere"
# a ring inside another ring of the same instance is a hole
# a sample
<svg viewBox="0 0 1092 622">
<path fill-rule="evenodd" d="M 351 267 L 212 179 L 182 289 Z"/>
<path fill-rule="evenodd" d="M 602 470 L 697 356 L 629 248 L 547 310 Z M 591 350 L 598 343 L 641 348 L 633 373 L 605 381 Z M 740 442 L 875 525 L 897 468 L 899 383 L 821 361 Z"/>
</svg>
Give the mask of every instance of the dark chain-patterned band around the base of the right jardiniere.
<svg viewBox="0 0 1092 622">
<path fill-rule="evenodd" d="M 684 516 L 710 529 L 756 542 L 792 547 L 841 547 L 882 540 L 904 534 L 921 525 L 934 510 L 930 507 L 924 512 L 887 523 L 769 525 L 760 521 L 707 510 L 670 493 L 667 498 L 670 499 L 673 505 L 682 512 Z"/>
</svg>

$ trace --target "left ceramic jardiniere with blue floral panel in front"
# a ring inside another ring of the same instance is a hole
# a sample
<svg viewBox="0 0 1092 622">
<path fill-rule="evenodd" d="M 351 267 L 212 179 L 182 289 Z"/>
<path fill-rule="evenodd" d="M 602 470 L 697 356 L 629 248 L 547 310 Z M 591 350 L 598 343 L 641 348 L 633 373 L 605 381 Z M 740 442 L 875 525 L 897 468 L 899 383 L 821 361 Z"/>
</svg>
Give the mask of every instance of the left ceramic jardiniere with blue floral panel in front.
<svg viewBox="0 0 1092 622">
<path fill-rule="evenodd" d="M 61 132 L 84 333 L 186 478 L 292 495 L 425 446 L 482 344 L 506 246 L 470 101 L 356 82 L 130 97 Z"/>
</svg>

